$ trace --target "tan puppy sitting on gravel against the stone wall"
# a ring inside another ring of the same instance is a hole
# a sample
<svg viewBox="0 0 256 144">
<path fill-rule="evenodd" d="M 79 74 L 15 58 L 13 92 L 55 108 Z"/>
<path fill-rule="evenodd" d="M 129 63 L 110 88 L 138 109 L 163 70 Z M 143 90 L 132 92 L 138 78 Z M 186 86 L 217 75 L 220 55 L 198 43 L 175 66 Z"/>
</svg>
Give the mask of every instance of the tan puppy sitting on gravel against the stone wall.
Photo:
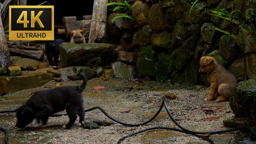
<svg viewBox="0 0 256 144">
<path fill-rule="evenodd" d="M 200 59 L 199 73 L 207 73 L 207 80 L 211 83 L 209 96 L 205 101 L 210 101 L 214 97 L 217 97 L 217 102 L 229 100 L 238 82 L 231 71 L 223 68 L 213 57 L 203 56 Z"/>
</svg>

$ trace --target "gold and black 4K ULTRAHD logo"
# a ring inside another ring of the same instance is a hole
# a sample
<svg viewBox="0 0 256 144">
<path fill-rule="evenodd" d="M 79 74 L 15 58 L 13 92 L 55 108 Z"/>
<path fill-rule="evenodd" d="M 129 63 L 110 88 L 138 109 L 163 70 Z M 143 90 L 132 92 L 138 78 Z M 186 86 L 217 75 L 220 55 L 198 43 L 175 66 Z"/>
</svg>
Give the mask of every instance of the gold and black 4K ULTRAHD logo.
<svg viewBox="0 0 256 144">
<path fill-rule="evenodd" d="M 9 40 L 54 40 L 54 6 L 9 6 Z"/>
</svg>

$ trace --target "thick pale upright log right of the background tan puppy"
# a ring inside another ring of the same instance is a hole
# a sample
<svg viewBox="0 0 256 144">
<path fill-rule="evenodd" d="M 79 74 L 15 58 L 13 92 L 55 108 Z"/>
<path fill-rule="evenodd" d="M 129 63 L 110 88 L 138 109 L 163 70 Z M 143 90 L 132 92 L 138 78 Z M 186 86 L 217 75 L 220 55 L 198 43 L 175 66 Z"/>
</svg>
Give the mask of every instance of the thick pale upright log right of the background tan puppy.
<svg viewBox="0 0 256 144">
<path fill-rule="evenodd" d="M 100 42 L 105 34 L 108 0 L 94 0 L 88 43 Z"/>
</svg>

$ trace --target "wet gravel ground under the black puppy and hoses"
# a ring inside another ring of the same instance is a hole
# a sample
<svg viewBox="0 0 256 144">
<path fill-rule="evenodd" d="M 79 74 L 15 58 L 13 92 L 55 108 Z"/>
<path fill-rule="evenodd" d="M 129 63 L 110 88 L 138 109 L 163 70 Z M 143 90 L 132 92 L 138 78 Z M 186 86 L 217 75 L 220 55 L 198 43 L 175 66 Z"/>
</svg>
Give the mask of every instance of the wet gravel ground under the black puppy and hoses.
<svg viewBox="0 0 256 144">
<path fill-rule="evenodd" d="M 88 81 L 88 86 L 83 91 L 84 107 L 89 109 L 99 106 L 110 116 L 125 123 L 142 123 L 150 119 L 158 111 L 162 96 L 176 95 L 176 99 L 167 99 L 168 108 L 185 128 L 193 131 L 220 131 L 231 129 L 223 126 L 223 120 L 231 119 L 232 113 L 229 102 L 204 101 L 208 96 L 209 88 L 195 86 L 185 88 L 157 83 L 151 80 L 141 80 L 143 83 L 127 82 L 120 79 L 103 81 L 95 78 Z M 82 81 L 61 82 L 66 85 L 81 85 Z M 30 94 L 37 90 L 54 88 L 57 82 L 51 81 L 46 85 L 5 95 L 0 101 L 0 110 L 15 110 L 24 104 Z M 105 86 L 106 89 L 94 91 L 94 86 Z M 121 91 L 124 87 L 132 86 L 132 91 Z M 203 110 L 215 111 L 203 111 Z M 129 111 L 130 110 L 130 111 Z M 129 113 L 121 113 L 129 111 Z M 60 113 L 65 113 L 61 111 Z M 212 120 L 213 117 L 216 119 Z M 212 118 L 208 119 L 207 118 Z M 111 121 L 100 110 L 89 111 L 85 114 L 85 122 L 93 120 Z M 74 125 L 70 129 L 62 126 L 68 122 L 68 116 L 50 117 L 46 128 L 37 128 L 36 120 L 26 128 L 15 128 L 15 113 L 0 115 L 0 126 L 8 129 L 10 144 L 116 144 L 118 140 L 131 133 L 156 126 L 178 128 L 168 116 L 165 108 L 150 123 L 138 127 L 123 126 L 115 123 L 111 126 L 100 126 L 99 129 L 84 129 Z M 78 119 L 77 119 L 78 122 Z M 0 144 L 3 142 L 4 133 L 0 132 Z M 172 138 L 176 140 L 173 141 Z M 246 143 L 249 139 L 243 132 L 211 135 L 211 140 L 219 144 Z M 244 142 L 245 141 L 245 142 Z M 125 139 L 122 144 L 209 144 L 209 142 L 192 135 L 170 130 L 156 129 L 140 133 Z M 250 141 L 255 143 L 255 141 Z"/>
</svg>

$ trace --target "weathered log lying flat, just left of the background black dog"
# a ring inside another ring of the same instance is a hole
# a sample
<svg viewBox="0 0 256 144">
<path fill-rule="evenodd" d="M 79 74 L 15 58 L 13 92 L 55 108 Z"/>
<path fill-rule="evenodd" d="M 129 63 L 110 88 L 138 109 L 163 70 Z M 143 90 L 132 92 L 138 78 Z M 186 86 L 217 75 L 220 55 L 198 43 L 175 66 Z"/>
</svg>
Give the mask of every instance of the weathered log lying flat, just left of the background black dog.
<svg viewBox="0 0 256 144">
<path fill-rule="evenodd" d="M 43 50 L 23 50 L 20 49 L 20 46 L 13 46 L 12 48 L 9 48 L 10 54 L 13 56 L 21 56 L 23 58 L 31 58 L 36 59 L 37 61 L 43 61 L 44 54 Z"/>
</svg>

